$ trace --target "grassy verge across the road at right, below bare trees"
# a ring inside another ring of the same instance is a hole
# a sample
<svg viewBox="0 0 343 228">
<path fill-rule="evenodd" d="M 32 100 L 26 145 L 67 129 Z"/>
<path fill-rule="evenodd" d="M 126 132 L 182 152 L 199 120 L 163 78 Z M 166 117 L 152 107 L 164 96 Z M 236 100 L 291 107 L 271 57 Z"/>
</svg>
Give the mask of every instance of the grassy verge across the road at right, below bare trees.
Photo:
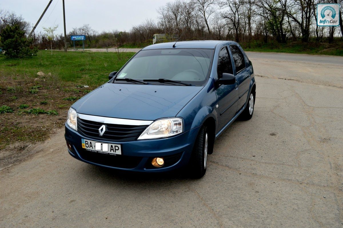
<svg viewBox="0 0 343 228">
<path fill-rule="evenodd" d="M 245 51 L 250 52 L 280 52 L 311 55 L 335 55 L 343 56 L 343 43 L 301 43 L 293 42 L 280 44 L 277 42 L 261 43 L 241 43 Z"/>
</svg>

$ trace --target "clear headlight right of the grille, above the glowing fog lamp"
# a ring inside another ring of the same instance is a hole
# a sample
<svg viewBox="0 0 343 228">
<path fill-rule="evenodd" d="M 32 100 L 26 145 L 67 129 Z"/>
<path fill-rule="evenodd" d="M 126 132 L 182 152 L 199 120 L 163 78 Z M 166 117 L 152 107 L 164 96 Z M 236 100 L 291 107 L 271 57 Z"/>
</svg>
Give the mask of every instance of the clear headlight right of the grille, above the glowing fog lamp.
<svg viewBox="0 0 343 228">
<path fill-rule="evenodd" d="M 158 119 L 147 127 L 139 139 L 165 138 L 182 133 L 184 126 L 181 118 Z"/>
</svg>

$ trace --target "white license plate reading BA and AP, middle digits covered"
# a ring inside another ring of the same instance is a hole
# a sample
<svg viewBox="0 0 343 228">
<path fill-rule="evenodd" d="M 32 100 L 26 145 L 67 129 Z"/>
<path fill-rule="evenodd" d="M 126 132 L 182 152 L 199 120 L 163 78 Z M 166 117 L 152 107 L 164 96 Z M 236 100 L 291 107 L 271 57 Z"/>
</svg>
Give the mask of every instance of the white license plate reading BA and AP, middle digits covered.
<svg viewBox="0 0 343 228">
<path fill-rule="evenodd" d="M 121 155 L 120 144 L 96 142 L 96 141 L 87 140 L 87 139 L 81 139 L 81 142 L 82 142 L 82 148 L 88 151 L 112 154 L 112 155 Z"/>
</svg>

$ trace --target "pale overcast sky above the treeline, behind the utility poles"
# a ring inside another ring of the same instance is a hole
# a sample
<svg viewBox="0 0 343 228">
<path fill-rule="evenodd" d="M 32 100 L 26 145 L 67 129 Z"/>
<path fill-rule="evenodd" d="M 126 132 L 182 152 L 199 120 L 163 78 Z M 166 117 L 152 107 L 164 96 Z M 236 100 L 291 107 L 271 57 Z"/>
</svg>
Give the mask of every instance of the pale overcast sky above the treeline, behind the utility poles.
<svg viewBox="0 0 343 228">
<path fill-rule="evenodd" d="M 171 0 L 65 0 L 66 30 L 83 24 L 101 31 L 129 31 L 146 19 L 157 18 L 156 9 Z M 0 9 L 14 11 L 31 24 L 36 24 L 49 0 L 0 0 Z M 63 33 L 62 0 L 53 0 L 36 31 L 42 26 L 58 24 L 58 33 Z"/>
</svg>

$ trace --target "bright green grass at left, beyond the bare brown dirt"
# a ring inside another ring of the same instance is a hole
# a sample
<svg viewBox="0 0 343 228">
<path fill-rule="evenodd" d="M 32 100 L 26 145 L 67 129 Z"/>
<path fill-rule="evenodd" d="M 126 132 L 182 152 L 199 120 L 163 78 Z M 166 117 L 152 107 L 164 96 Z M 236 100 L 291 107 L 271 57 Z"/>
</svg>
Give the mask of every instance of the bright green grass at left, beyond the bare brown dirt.
<svg viewBox="0 0 343 228">
<path fill-rule="evenodd" d="M 45 78 L 50 78 L 55 84 L 65 82 L 84 84 L 97 87 L 108 80 L 108 74 L 119 70 L 134 53 L 124 53 L 122 59 L 118 59 L 116 53 L 106 52 L 62 52 L 41 50 L 37 56 L 24 59 L 7 59 L 0 55 L 0 75 L 12 75 L 17 77 L 39 78 L 37 72 L 44 72 Z M 48 75 L 51 73 L 51 75 Z M 31 93 L 36 93 L 39 85 L 32 88 Z M 15 92 L 16 88 L 7 88 L 9 92 Z"/>
</svg>

